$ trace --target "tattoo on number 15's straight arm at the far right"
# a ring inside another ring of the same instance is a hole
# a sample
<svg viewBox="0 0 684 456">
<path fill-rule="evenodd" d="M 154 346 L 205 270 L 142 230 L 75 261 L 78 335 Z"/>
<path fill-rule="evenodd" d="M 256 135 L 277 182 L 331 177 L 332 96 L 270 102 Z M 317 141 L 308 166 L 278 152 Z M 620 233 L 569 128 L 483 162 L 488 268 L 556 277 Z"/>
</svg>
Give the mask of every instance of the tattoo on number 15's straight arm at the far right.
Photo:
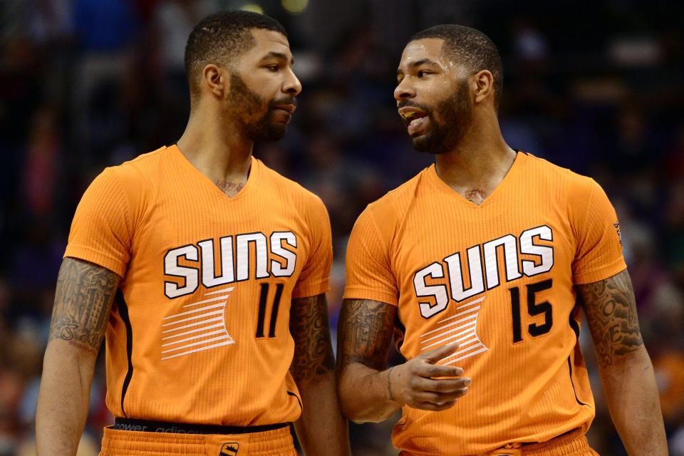
<svg viewBox="0 0 684 456">
<path fill-rule="evenodd" d="M 636 315 L 634 291 L 625 270 L 594 284 L 578 285 L 589 330 L 601 367 L 643 345 Z"/>
</svg>

